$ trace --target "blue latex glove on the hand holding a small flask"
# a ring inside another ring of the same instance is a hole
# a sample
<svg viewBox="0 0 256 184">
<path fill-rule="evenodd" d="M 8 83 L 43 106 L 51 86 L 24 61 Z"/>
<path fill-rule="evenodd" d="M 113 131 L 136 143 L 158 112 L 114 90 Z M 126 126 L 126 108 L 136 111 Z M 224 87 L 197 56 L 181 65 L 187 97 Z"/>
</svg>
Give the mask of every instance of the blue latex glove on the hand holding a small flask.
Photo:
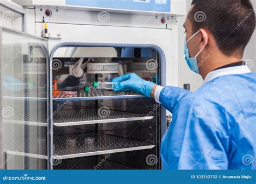
<svg viewBox="0 0 256 184">
<path fill-rule="evenodd" d="M 143 80 L 134 73 L 119 76 L 116 79 L 113 79 L 112 82 L 117 82 L 116 84 L 114 84 L 113 91 L 132 90 L 150 98 L 151 90 L 155 84 L 153 82 Z"/>
</svg>

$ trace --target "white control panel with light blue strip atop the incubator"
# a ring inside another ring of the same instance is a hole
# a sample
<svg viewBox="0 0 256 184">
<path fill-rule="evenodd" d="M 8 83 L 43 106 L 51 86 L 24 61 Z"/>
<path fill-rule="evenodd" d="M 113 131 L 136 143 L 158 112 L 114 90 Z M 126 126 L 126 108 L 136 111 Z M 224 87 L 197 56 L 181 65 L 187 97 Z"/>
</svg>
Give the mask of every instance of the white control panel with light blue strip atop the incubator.
<svg viewBox="0 0 256 184">
<path fill-rule="evenodd" d="M 12 0 L 21 6 L 57 6 L 87 11 L 186 16 L 186 0 Z M 48 12 L 50 13 L 50 12 Z"/>
</svg>

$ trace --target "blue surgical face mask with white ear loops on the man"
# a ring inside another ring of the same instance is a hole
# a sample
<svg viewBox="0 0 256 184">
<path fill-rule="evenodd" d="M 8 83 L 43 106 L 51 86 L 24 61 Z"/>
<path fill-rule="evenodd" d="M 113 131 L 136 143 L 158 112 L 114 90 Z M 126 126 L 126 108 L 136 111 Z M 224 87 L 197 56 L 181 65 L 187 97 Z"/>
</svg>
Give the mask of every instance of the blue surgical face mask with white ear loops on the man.
<svg viewBox="0 0 256 184">
<path fill-rule="evenodd" d="M 190 58 L 190 52 L 188 51 L 188 47 L 187 47 L 187 43 L 188 41 L 192 40 L 192 38 L 196 37 L 196 35 L 199 33 L 196 32 L 190 39 L 188 39 L 186 41 L 185 39 L 185 49 L 184 49 L 184 54 L 185 54 L 185 59 L 186 59 L 186 62 L 187 62 L 187 65 L 188 67 L 190 67 L 190 69 L 193 71 L 193 72 L 196 72 L 197 74 L 199 74 L 199 70 L 198 70 L 198 66 L 197 66 L 197 56 L 203 51 L 203 49 L 205 48 L 202 48 L 198 54 L 196 56 L 194 56 L 194 58 Z"/>
</svg>

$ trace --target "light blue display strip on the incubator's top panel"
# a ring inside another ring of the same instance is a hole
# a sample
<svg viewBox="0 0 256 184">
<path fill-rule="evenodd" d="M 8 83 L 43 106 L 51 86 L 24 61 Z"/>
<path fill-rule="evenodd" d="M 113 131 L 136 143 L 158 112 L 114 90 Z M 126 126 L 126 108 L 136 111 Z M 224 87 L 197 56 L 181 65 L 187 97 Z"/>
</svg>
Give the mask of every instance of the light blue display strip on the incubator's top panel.
<svg viewBox="0 0 256 184">
<path fill-rule="evenodd" d="M 66 0 L 66 5 L 171 13 L 171 0 Z"/>
</svg>

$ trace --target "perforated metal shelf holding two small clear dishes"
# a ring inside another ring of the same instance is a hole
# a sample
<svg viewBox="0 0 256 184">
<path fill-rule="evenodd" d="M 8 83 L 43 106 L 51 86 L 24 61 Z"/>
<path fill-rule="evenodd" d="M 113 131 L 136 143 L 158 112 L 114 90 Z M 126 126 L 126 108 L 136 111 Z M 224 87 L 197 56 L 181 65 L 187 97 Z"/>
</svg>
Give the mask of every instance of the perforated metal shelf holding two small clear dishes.
<svg viewBox="0 0 256 184">
<path fill-rule="evenodd" d="M 95 144 L 91 146 L 85 145 L 84 138 L 86 137 L 95 137 Z M 67 138 L 76 138 L 76 145 L 67 146 Z M 156 146 L 149 143 L 145 143 L 144 141 L 116 137 L 99 132 L 56 136 L 53 139 L 53 144 L 55 144 L 55 151 L 53 153 L 54 159 L 68 159 L 99 154 L 145 150 L 151 149 L 154 146 Z"/>
</svg>

